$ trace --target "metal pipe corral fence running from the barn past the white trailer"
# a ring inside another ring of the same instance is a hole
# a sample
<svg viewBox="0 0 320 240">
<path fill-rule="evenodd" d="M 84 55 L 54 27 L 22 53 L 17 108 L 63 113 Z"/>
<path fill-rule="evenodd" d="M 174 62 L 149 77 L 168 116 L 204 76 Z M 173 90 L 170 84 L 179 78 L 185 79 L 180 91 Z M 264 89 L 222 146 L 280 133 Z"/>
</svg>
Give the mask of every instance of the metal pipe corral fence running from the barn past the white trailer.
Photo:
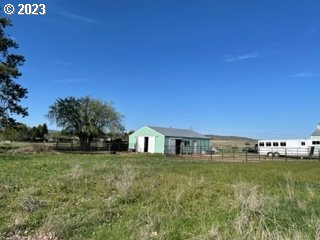
<svg viewBox="0 0 320 240">
<path fill-rule="evenodd" d="M 191 147 L 180 148 L 176 146 L 165 146 L 165 155 L 170 157 L 180 157 L 190 160 L 211 160 L 211 161 L 236 161 L 236 162 L 257 162 L 257 161 L 291 161 L 291 160 L 318 160 L 320 161 L 320 152 L 302 153 L 300 149 L 281 151 L 279 154 L 268 154 L 260 152 L 258 149 L 237 147 L 233 148 L 215 148 L 215 147 Z"/>
</svg>

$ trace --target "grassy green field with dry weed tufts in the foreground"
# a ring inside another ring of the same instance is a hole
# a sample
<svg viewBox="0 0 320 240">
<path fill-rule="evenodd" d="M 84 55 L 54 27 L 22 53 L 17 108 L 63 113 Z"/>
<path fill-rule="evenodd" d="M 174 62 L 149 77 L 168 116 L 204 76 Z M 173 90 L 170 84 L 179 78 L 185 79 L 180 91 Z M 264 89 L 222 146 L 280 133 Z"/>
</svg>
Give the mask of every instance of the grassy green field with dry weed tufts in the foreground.
<svg viewBox="0 0 320 240">
<path fill-rule="evenodd" d="M 3 153 L 0 239 L 320 239 L 320 163 Z"/>
</svg>

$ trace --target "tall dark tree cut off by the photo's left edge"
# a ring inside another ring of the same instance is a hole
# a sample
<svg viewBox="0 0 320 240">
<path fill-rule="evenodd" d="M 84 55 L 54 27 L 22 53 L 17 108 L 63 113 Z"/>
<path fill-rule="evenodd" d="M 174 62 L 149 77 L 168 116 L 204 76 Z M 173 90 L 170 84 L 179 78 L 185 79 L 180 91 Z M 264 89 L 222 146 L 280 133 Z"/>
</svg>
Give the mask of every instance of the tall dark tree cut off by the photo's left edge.
<svg viewBox="0 0 320 240">
<path fill-rule="evenodd" d="M 28 91 L 15 82 L 21 76 L 19 67 L 25 59 L 10 52 L 18 48 L 14 39 L 4 32 L 10 26 L 12 24 L 8 18 L 0 17 L 0 127 L 14 122 L 12 114 L 28 115 L 27 108 L 21 106 L 21 99 L 26 98 Z"/>
</svg>

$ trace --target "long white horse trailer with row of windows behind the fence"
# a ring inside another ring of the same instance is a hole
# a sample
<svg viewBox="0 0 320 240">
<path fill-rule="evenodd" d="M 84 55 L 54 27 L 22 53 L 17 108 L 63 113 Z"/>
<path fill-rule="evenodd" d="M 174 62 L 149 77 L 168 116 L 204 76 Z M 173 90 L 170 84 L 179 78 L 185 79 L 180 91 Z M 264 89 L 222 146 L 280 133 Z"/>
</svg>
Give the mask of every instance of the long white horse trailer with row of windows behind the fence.
<svg viewBox="0 0 320 240">
<path fill-rule="evenodd" d="M 284 139 L 258 141 L 260 155 L 279 156 L 320 156 L 320 139 Z"/>
</svg>

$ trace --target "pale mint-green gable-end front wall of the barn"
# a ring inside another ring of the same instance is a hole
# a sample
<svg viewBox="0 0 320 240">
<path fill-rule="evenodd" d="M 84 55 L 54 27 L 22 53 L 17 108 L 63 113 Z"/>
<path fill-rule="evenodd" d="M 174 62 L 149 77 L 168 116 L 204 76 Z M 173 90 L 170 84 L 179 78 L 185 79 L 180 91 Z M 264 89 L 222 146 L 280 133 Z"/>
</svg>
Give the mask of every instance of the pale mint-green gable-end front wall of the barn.
<svg viewBox="0 0 320 240">
<path fill-rule="evenodd" d="M 164 136 L 146 126 L 138 129 L 129 136 L 129 149 L 138 150 L 137 145 L 141 137 L 154 137 L 154 153 L 164 153 Z"/>
</svg>

